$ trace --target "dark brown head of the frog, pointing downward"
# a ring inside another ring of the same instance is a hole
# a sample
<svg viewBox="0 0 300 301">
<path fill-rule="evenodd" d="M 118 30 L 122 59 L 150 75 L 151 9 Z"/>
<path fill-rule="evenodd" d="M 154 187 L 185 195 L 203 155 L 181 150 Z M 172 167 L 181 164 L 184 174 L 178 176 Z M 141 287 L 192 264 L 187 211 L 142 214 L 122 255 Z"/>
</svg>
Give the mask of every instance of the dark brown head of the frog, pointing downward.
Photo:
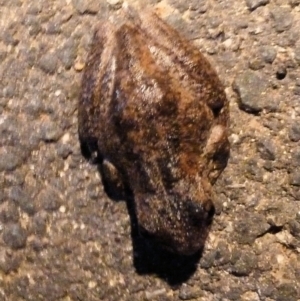
<svg viewBox="0 0 300 301">
<path fill-rule="evenodd" d="M 137 196 L 140 232 L 177 254 L 192 255 L 201 250 L 215 210 L 211 193 L 199 186 Z"/>
</svg>

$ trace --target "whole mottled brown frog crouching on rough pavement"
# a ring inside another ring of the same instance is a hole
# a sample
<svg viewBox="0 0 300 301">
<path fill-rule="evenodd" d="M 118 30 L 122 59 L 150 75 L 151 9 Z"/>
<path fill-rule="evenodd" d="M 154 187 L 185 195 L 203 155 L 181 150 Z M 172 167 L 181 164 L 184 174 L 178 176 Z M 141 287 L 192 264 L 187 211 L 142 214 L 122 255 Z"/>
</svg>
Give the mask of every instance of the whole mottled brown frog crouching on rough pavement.
<svg viewBox="0 0 300 301">
<path fill-rule="evenodd" d="M 228 101 L 209 62 L 155 14 L 97 28 L 79 138 L 134 195 L 140 229 L 179 254 L 203 247 L 229 156 Z"/>
</svg>

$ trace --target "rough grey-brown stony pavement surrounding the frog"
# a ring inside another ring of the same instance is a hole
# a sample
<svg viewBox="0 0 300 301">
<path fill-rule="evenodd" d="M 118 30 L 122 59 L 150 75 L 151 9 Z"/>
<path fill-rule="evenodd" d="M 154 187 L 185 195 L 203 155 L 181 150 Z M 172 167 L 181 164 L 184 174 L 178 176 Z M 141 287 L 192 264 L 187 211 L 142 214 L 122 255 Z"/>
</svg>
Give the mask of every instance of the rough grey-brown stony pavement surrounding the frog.
<svg viewBox="0 0 300 301">
<path fill-rule="evenodd" d="M 189 260 L 145 247 L 80 151 L 92 29 L 121 2 L 0 0 L 0 299 L 299 300 L 300 2 L 143 1 L 202 51 L 230 100 L 214 222 Z M 246 71 L 267 83 L 259 112 L 232 89 Z"/>
</svg>

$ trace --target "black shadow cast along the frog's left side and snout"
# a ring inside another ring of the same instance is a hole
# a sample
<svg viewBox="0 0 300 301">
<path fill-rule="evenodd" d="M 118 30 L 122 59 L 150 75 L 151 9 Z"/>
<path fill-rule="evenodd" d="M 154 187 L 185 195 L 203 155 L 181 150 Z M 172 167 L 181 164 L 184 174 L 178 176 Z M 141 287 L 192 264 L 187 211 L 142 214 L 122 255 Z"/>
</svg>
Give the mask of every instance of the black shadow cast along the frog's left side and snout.
<svg viewBox="0 0 300 301">
<path fill-rule="evenodd" d="M 119 190 L 108 182 L 103 169 L 102 158 L 96 156 L 91 159 L 87 156 L 84 145 L 81 145 L 84 157 L 97 165 L 102 178 L 104 190 L 113 201 L 125 200 L 131 223 L 131 238 L 133 245 L 133 264 L 138 274 L 156 274 L 171 286 L 177 286 L 186 282 L 196 271 L 197 264 L 202 256 L 202 250 L 191 256 L 183 256 L 171 253 L 163 249 L 153 239 L 143 237 L 138 228 L 134 206 L 134 195 L 128 187 Z"/>
</svg>

